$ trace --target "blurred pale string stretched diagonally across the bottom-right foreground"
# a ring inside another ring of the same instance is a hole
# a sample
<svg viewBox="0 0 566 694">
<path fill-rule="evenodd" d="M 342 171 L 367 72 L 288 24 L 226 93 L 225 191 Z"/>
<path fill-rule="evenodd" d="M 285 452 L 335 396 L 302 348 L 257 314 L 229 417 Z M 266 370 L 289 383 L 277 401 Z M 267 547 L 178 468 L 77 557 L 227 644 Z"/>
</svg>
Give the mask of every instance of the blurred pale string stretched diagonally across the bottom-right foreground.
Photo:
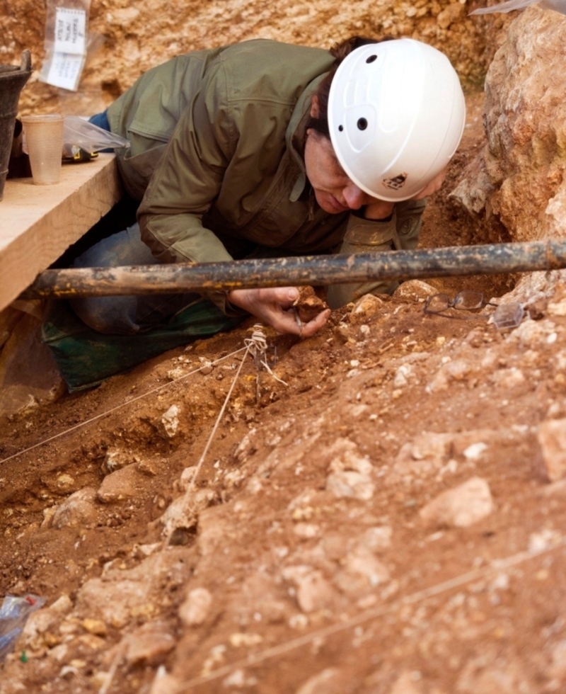
<svg viewBox="0 0 566 694">
<path fill-rule="evenodd" d="M 566 538 L 558 542 L 558 544 L 553 545 L 553 547 L 545 547 L 545 549 L 542 550 L 526 550 L 524 552 L 512 554 L 510 557 L 504 557 L 504 559 L 494 559 L 490 566 L 484 567 L 483 569 L 473 569 L 473 571 L 467 571 L 465 574 L 460 574 L 460 576 L 456 576 L 454 579 L 442 581 L 441 583 L 431 586 L 430 588 L 424 588 L 422 591 L 411 593 L 410 595 L 405 596 L 405 598 L 400 598 L 389 605 L 383 605 L 382 607 L 374 608 L 373 610 L 365 610 L 361 614 L 352 617 L 346 622 L 340 622 L 340 624 L 333 624 L 328 627 L 323 627 L 322 629 L 310 632 L 304 636 L 297 637 L 296 639 L 291 639 L 290 641 L 278 644 L 272 648 L 265 649 L 265 651 L 260 651 L 257 654 L 252 653 L 246 658 L 240 659 L 212 671 L 209 673 L 209 675 L 192 678 L 192 680 L 189 680 L 180 687 L 172 690 L 171 694 L 180 694 L 181 692 L 186 692 L 191 687 L 196 687 L 200 684 L 224 677 L 232 673 L 234 670 L 257 665 L 267 659 L 289 653 L 297 648 L 300 648 L 301 646 L 308 646 L 316 639 L 325 639 L 347 629 L 351 629 L 352 627 L 356 627 L 357 625 L 363 624 L 364 622 L 369 622 L 376 618 L 383 617 L 383 615 L 398 610 L 398 608 L 402 607 L 403 605 L 420 603 L 427 600 L 427 598 L 432 598 L 434 596 L 441 595 L 441 593 L 451 591 L 454 588 L 459 588 L 470 583 L 470 581 L 477 581 L 478 579 L 481 579 L 488 574 L 492 574 L 495 571 L 509 569 L 510 567 L 514 567 L 518 564 L 529 561 L 529 559 L 534 559 L 542 556 L 543 554 L 555 552 L 555 550 L 560 550 L 563 547 L 566 547 Z"/>
</svg>

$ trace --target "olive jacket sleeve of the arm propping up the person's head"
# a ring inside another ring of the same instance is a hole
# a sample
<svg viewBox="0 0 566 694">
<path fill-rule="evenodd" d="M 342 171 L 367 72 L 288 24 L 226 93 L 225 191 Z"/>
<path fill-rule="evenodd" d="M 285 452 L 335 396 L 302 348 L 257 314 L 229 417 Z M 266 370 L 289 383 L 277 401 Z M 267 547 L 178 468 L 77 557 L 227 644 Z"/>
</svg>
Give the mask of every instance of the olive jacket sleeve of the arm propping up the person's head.
<svg viewBox="0 0 566 694">
<path fill-rule="evenodd" d="M 339 252 L 370 253 L 415 249 L 426 204 L 426 199 L 397 203 L 391 219 L 384 222 L 350 215 Z M 398 285 L 398 282 L 379 280 L 363 284 L 332 285 L 328 288 L 328 305 L 336 309 L 357 301 L 364 294 L 393 294 Z"/>
</svg>

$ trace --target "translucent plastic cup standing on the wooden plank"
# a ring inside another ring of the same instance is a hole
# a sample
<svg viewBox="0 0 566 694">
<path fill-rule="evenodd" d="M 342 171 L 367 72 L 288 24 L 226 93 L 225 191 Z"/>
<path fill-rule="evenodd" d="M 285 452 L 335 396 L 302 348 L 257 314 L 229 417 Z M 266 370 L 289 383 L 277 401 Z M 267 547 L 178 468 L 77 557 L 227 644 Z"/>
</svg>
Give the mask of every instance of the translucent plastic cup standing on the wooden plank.
<svg viewBox="0 0 566 694">
<path fill-rule="evenodd" d="M 63 156 L 63 116 L 25 115 L 21 118 L 30 155 L 33 182 L 38 186 L 59 183 Z"/>
</svg>

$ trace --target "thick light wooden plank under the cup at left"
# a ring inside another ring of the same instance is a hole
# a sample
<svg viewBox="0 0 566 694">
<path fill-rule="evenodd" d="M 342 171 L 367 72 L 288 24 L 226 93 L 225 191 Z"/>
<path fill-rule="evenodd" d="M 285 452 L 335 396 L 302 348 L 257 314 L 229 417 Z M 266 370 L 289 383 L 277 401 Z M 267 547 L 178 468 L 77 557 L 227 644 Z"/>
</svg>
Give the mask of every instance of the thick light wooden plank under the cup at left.
<svg viewBox="0 0 566 694">
<path fill-rule="evenodd" d="M 0 202 L 0 311 L 122 196 L 114 154 L 65 164 L 54 186 L 6 181 Z"/>
</svg>

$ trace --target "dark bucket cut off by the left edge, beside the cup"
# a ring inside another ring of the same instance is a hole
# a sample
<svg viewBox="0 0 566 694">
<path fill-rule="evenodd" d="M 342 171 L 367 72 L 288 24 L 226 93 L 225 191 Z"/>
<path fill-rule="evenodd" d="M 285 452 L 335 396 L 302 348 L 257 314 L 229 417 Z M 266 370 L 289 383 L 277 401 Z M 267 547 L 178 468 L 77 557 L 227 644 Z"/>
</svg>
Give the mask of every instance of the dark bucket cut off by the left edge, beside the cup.
<svg viewBox="0 0 566 694">
<path fill-rule="evenodd" d="M 0 65 L 0 200 L 4 198 L 4 183 L 8 175 L 20 92 L 32 72 L 31 54 L 28 50 L 22 52 L 20 67 Z"/>
</svg>

